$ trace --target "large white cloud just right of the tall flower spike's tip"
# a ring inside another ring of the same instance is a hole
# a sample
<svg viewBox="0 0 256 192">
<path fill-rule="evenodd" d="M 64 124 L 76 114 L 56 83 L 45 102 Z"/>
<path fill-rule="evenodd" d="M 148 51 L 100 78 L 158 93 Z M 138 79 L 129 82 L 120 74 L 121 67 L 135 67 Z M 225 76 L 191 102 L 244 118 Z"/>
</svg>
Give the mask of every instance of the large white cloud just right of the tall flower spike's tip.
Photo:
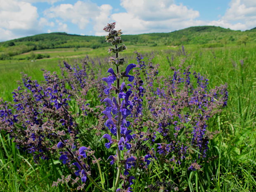
<svg viewBox="0 0 256 192">
<path fill-rule="evenodd" d="M 121 0 L 121 6 L 126 12 L 112 14 L 111 19 L 126 34 L 170 32 L 205 24 L 196 20 L 198 11 L 173 0 Z"/>
</svg>

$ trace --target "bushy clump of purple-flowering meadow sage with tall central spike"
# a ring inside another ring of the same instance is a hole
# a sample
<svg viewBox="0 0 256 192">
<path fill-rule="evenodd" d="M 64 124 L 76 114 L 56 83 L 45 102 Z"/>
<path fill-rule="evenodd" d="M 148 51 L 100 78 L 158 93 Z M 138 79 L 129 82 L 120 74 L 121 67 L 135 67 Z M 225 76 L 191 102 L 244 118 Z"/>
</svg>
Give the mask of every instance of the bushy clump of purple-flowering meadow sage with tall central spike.
<svg viewBox="0 0 256 192">
<path fill-rule="evenodd" d="M 88 63 L 95 61 L 88 57 L 81 64 L 64 62 L 61 76 L 44 71 L 40 83 L 23 74 L 14 102 L 0 100 L 1 131 L 36 162 L 53 159 L 61 150 L 59 161 L 74 174 L 62 175 L 53 186 L 71 183 L 85 191 L 89 180 L 100 191 L 132 192 L 142 175 L 161 167 L 154 173 L 158 179 L 143 183 L 146 191 L 185 190 L 183 175 L 204 175 L 202 164 L 213 159 L 209 140 L 216 133 L 209 131 L 208 121 L 227 105 L 227 85 L 209 89 L 207 78 L 185 66 L 185 47 L 176 53 L 183 57 L 180 66 L 170 66 L 167 78 L 153 64 L 154 53 L 146 60 L 135 52 L 137 63 L 126 65 L 120 57 L 126 50 L 121 30 L 111 23 L 104 31 L 112 45 L 108 62 L 114 66 L 107 77 L 90 69 Z M 104 162 L 112 168 L 109 176 Z"/>
</svg>

